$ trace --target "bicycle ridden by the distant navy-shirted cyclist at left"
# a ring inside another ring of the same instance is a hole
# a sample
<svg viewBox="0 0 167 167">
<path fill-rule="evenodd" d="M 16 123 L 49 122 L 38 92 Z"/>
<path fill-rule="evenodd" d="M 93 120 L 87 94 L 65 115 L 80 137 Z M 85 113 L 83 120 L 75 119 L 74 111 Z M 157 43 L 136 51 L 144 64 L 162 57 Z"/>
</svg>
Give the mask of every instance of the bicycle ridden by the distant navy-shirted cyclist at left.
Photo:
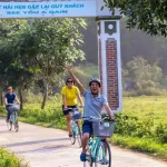
<svg viewBox="0 0 167 167">
<path fill-rule="evenodd" d="M 19 106 L 16 104 L 8 104 L 9 105 L 9 110 L 11 112 L 10 119 L 7 122 L 8 130 L 12 130 L 12 125 L 14 127 L 16 132 L 19 131 L 19 124 L 18 124 L 18 111 L 19 111 Z"/>
</svg>

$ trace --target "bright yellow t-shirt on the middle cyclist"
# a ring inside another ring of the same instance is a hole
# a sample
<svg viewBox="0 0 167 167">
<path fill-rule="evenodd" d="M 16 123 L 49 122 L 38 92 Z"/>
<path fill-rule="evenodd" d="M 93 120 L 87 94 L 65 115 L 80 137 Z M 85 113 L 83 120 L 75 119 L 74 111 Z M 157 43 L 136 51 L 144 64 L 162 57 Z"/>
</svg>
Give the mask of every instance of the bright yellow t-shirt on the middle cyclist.
<svg viewBox="0 0 167 167">
<path fill-rule="evenodd" d="M 69 89 L 66 86 L 66 87 L 62 88 L 61 94 L 66 95 L 67 106 L 77 105 L 77 95 L 79 94 L 79 89 L 77 87 L 72 86 L 72 88 Z"/>
</svg>

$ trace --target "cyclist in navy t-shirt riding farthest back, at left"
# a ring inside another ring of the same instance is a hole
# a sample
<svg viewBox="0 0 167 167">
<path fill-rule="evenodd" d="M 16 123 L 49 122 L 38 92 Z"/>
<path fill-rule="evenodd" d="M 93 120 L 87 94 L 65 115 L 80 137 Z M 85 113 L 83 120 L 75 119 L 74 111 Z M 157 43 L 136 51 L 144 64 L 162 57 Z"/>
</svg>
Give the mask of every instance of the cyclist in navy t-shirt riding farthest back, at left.
<svg viewBox="0 0 167 167">
<path fill-rule="evenodd" d="M 7 119 L 6 119 L 7 122 L 9 121 L 10 115 L 11 115 L 11 112 L 9 110 L 10 104 L 14 104 L 14 101 L 17 101 L 17 104 L 20 104 L 17 95 L 12 92 L 12 87 L 9 86 L 7 88 L 7 94 L 4 95 L 4 105 L 6 105 L 6 109 L 7 109 Z"/>
</svg>

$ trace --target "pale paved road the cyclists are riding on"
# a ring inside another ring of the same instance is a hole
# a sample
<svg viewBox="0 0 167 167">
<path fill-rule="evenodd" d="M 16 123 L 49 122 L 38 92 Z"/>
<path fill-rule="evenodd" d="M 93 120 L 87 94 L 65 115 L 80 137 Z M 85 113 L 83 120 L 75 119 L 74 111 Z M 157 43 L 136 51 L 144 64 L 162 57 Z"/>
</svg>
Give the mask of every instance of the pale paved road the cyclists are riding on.
<svg viewBox="0 0 167 167">
<path fill-rule="evenodd" d="M 82 167 L 80 148 L 71 146 L 67 132 L 20 124 L 20 131 L 8 131 L 4 119 L 0 119 L 0 146 L 13 150 L 31 167 Z M 151 159 L 118 147 L 111 147 L 112 167 L 167 167 L 167 163 Z"/>
</svg>

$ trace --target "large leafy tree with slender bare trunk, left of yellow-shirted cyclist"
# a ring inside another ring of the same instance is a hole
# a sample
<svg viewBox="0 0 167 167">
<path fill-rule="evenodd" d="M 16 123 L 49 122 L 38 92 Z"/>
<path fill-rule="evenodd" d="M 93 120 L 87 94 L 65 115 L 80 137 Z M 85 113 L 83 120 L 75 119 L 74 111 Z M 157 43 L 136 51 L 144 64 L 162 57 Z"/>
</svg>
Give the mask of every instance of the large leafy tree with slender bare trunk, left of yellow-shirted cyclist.
<svg viewBox="0 0 167 167">
<path fill-rule="evenodd" d="M 80 29 L 86 27 L 84 19 L 37 19 L 18 38 L 19 65 L 28 66 L 29 71 L 42 80 L 41 108 L 46 105 L 49 84 L 65 70 L 66 62 L 84 59 L 78 48 L 84 42 Z"/>
</svg>

